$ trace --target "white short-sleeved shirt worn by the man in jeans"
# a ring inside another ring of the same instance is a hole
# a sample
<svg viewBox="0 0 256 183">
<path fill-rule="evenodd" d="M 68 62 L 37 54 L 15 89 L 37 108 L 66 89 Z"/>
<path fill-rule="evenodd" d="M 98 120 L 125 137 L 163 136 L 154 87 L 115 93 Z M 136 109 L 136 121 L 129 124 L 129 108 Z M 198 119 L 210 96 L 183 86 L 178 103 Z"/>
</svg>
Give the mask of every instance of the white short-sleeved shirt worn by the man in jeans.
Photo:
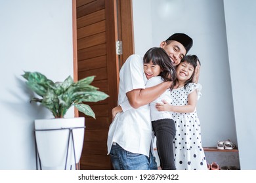
<svg viewBox="0 0 256 183">
<path fill-rule="evenodd" d="M 146 76 L 142 57 L 129 56 L 121 67 L 119 78 L 118 105 L 127 101 L 127 92 L 145 88 Z M 129 152 L 149 156 L 152 137 L 149 105 L 119 112 L 108 131 L 108 154 L 112 144 L 116 142 Z"/>
</svg>

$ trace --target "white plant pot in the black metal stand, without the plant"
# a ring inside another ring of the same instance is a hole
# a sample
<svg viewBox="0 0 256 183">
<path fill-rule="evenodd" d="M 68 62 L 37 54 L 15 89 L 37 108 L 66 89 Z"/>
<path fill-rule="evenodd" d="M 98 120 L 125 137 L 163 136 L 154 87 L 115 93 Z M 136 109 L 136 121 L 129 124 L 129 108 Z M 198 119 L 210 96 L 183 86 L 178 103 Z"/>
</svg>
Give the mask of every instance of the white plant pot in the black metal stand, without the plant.
<svg viewBox="0 0 256 183">
<path fill-rule="evenodd" d="M 74 146 L 70 129 L 73 131 Z M 35 141 L 41 166 L 47 169 L 68 169 L 70 165 L 78 163 L 83 150 L 84 133 L 83 117 L 35 120 Z"/>
</svg>

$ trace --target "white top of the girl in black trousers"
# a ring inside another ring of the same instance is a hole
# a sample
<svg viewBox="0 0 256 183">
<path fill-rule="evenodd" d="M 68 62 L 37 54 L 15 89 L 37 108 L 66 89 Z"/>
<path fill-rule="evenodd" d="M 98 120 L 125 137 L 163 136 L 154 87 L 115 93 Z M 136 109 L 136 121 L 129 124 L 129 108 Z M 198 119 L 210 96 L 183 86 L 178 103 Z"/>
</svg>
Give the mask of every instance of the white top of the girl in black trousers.
<svg viewBox="0 0 256 183">
<path fill-rule="evenodd" d="M 154 76 L 148 80 L 146 83 L 146 88 L 156 86 L 157 84 L 160 84 L 163 82 L 161 79 L 161 76 Z M 167 101 L 167 103 L 171 104 L 172 99 L 171 99 L 171 90 L 166 90 L 163 94 L 160 95 L 156 100 L 152 101 L 150 103 L 150 116 L 151 116 L 151 121 L 156 121 L 160 119 L 172 119 L 171 112 L 168 111 L 158 111 L 156 109 L 156 103 L 163 103 L 161 100 Z"/>
</svg>

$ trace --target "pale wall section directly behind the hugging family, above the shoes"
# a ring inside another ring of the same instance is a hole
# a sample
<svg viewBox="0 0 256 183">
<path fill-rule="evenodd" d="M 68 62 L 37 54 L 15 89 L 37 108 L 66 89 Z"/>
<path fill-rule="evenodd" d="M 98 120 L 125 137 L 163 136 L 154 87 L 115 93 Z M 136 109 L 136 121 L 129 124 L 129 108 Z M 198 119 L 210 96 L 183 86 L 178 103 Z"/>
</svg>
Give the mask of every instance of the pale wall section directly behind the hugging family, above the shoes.
<svg viewBox="0 0 256 183">
<path fill-rule="evenodd" d="M 151 10 L 146 3 L 151 3 Z M 199 82 L 203 86 L 203 95 L 197 108 L 203 146 L 215 146 L 217 141 L 226 139 L 236 142 L 223 1 L 144 0 L 142 5 L 134 0 L 133 12 L 137 54 L 144 54 L 148 48 L 159 46 L 173 33 L 187 33 L 194 39 L 189 54 L 198 55 L 202 63 Z M 136 24 L 136 15 L 140 13 L 143 16 L 148 12 L 152 12 L 151 16 L 143 20 L 152 25 L 150 36 L 144 34 L 150 32 L 148 27 L 144 29 Z M 143 45 L 140 41 L 138 49 L 136 37 L 140 37 L 140 40 L 151 39 L 152 44 Z"/>
</svg>

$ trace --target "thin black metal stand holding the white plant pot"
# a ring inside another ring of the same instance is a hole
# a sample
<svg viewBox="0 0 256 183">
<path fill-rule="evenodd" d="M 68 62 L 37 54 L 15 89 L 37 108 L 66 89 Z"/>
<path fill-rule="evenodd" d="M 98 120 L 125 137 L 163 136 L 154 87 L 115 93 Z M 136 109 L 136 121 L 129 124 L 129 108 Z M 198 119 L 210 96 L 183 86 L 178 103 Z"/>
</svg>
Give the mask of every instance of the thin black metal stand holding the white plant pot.
<svg viewBox="0 0 256 183">
<path fill-rule="evenodd" d="M 72 142 L 73 142 L 73 152 L 74 152 L 74 159 L 75 159 L 75 144 L 74 144 L 74 136 L 73 136 L 73 129 L 78 129 L 78 128 L 85 128 L 85 126 L 83 127 L 68 127 L 68 128 L 58 128 L 58 129 L 35 129 L 34 131 L 34 135 L 36 131 L 56 131 L 56 130 L 68 130 L 70 131 L 70 133 L 68 134 L 68 148 L 70 146 L 70 138 L 72 138 Z M 35 139 L 35 163 L 36 163 L 36 168 L 38 170 L 38 163 L 37 161 L 39 161 L 39 167 L 40 170 L 42 169 L 41 166 L 41 159 L 39 157 L 39 153 L 37 150 L 37 141 Z M 75 159 L 76 162 L 76 159 Z M 67 153 L 66 153 L 66 163 L 65 163 L 65 170 L 67 168 L 67 163 L 68 163 L 68 149 L 67 149 Z M 72 165 L 70 166 L 70 170 L 72 169 Z M 77 170 L 77 166 L 75 166 L 75 169 Z"/>
</svg>

